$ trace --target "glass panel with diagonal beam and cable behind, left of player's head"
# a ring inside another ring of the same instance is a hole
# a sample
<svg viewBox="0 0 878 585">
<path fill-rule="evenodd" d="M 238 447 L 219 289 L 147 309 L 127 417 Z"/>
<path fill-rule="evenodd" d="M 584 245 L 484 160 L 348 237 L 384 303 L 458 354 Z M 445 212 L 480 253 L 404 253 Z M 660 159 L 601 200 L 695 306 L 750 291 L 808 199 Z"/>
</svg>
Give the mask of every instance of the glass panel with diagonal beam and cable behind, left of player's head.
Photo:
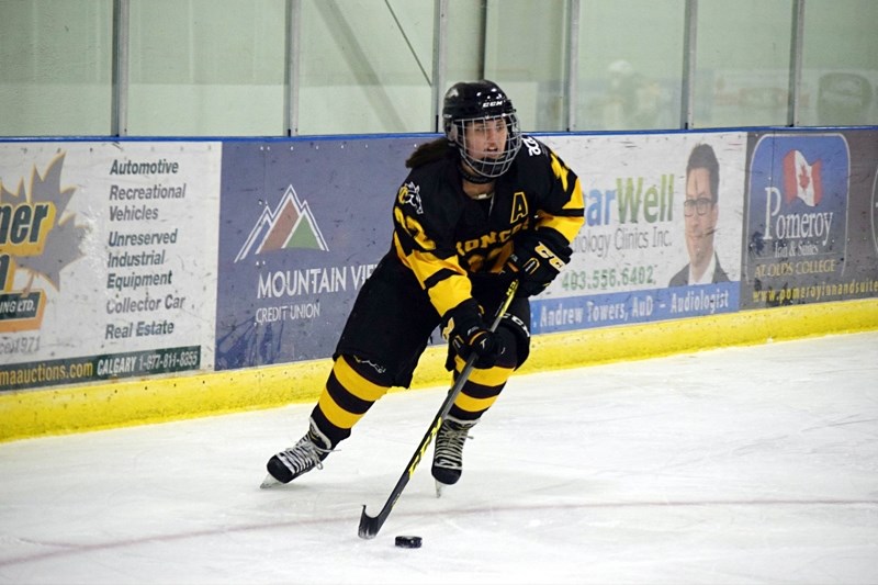
<svg viewBox="0 0 878 585">
<path fill-rule="evenodd" d="M 431 131 L 434 3 L 303 0 L 300 134 Z"/>
</svg>

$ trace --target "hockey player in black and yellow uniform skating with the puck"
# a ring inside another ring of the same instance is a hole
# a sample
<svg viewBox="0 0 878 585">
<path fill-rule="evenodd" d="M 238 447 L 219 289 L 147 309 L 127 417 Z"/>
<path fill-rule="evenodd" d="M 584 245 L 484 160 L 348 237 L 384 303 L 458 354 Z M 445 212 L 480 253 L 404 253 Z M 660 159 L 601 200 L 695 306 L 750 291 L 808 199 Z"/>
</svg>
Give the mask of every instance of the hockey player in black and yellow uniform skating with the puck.
<svg viewBox="0 0 878 585">
<path fill-rule="evenodd" d="M 530 303 L 570 261 L 584 222 L 576 175 L 519 131 L 513 102 L 492 81 L 444 95 L 444 137 L 420 145 L 393 207 L 393 241 L 354 302 L 326 386 L 295 446 L 268 461 L 262 487 L 322 468 L 391 386 L 408 387 L 430 334 L 449 340 L 455 375 L 475 368 L 436 435 L 437 488 L 461 476 L 469 430 L 528 357 Z M 485 315 L 519 279 L 497 330 Z"/>
</svg>

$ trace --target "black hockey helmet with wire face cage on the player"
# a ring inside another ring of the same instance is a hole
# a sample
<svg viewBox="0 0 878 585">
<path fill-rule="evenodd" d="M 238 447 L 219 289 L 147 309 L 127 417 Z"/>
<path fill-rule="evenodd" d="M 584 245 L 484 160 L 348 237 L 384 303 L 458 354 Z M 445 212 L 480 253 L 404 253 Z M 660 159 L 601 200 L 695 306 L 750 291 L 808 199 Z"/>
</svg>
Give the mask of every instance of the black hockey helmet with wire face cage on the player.
<svg viewBox="0 0 878 585">
<path fill-rule="evenodd" d="M 496 119 L 506 123 L 506 145 L 503 153 L 496 158 L 475 158 L 466 148 L 465 125 Z M 442 122 L 446 136 L 458 146 L 461 158 L 485 179 L 494 179 L 509 170 L 521 148 L 521 131 L 513 101 L 493 81 L 485 79 L 451 86 L 442 104 Z"/>
</svg>

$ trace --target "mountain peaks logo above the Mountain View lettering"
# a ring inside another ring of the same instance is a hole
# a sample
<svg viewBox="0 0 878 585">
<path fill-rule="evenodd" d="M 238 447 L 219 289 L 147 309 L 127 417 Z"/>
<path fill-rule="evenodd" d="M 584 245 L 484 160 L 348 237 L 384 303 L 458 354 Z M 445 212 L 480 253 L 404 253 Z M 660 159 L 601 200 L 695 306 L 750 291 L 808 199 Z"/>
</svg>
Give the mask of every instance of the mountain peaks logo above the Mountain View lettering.
<svg viewBox="0 0 878 585">
<path fill-rule="evenodd" d="M 329 251 L 308 202 L 299 201 L 291 184 L 277 207 L 262 210 L 235 261 L 239 262 L 250 254 L 293 248 Z"/>
</svg>

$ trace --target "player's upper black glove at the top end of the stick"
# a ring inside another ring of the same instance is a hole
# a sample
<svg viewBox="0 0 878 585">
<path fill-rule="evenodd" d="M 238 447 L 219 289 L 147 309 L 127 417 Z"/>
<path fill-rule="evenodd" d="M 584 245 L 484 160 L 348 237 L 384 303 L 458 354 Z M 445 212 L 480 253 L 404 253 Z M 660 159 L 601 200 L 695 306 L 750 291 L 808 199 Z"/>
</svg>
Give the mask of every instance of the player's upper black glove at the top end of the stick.
<svg viewBox="0 0 878 585">
<path fill-rule="evenodd" d="M 518 277 L 518 295 L 540 294 L 570 262 L 573 250 L 558 237 L 529 233 L 515 239 L 505 272 Z"/>
</svg>

